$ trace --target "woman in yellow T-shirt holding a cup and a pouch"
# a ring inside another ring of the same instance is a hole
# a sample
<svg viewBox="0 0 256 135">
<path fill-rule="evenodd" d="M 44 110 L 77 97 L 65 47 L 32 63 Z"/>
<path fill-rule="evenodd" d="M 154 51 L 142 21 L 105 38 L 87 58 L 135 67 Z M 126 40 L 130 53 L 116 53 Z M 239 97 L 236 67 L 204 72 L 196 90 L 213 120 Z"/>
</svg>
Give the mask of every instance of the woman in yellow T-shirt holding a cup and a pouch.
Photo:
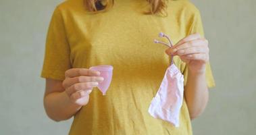
<svg viewBox="0 0 256 135">
<path fill-rule="evenodd" d="M 176 45 L 153 43 L 159 32 Z M 179 128 L 148 113 L 172 55 L 185 80 Z M 208 60 L 189 1 L 68 0 L 55 8 L 47 34 L 45 110 L 55 121 L 74 116 L 70 134 L 192 134 L 190 119 L 215 85 Z M 106 96 L 95 88 L 103 78 L 88 70 L 93 65 L 113 65 Z"/>
</svg>

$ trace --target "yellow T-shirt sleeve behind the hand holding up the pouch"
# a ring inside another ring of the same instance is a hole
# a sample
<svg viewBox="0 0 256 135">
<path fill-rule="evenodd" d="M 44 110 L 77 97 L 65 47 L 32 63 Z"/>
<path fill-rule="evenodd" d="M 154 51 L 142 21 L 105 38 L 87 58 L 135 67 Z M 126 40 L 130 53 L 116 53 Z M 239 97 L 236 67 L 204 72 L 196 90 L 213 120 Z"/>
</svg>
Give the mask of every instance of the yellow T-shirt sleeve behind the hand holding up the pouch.
<svg viewBox="0 0 256 135">
<path fill-rule="evenodd" d="M 197 11 L 195 11 L 195 14 L 193 15 L 193 21 L 190 22 L 190 28 L 188 29 L 188 34 L 195 34 L 195 33 L 199 33 L 201 34 L 201 36 L 204 36 L 201 14 L 198 9 Z M 206 70 L 207 86 L 208 88 L 212 88 L 215 86 L 215 81 L 213 78 L 213 73 L 211 72 L 210 62 L 207 62 L 205 70 Z M 186 85 L 186 80 L 188 76 L 188 67 L 186 65 L 185 65 L 183 74 L 184 74 L 184 85 Z"/>
</svg>

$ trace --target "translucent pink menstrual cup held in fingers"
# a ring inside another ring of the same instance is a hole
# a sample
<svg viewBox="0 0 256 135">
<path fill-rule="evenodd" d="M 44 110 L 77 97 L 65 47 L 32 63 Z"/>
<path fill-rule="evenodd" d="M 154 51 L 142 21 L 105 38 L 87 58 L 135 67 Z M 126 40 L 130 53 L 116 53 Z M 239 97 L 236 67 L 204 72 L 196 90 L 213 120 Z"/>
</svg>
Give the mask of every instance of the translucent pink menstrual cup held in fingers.
<svg viewBox="0 0 256 135">
<path fill-rule="evenodd" d="M 99 90 L 103 93 L 103 95 L 106 94 L 107 89 L 109 88 L 110 82 L 112 80 L 113 75 L 113 66 L 112 65 L 96 65 L 89 70 L 96 70 L 98 72 L 101 72 L 99 76 L 103 77 L 103 82 L 99 82 L 99 85 L 97 86 Z"/>
</svg>

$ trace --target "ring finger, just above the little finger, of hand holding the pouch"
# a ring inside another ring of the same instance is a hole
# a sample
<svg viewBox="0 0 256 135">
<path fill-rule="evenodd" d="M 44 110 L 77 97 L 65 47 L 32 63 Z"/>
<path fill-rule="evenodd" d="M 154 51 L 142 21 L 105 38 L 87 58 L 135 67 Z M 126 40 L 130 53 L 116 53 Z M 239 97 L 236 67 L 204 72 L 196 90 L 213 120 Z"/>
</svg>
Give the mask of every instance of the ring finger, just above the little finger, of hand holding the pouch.
<svg viewBox="0 0 256 135">
<path fill-rule="evenodd" d="M 208 51 L 207 47 L 203 47 L 203 46 L 188 47 L 185 49 L 178 50 L 176 55 L 182 56 L 182 55 L 189 55 L 189 54 L 195 54 L 195 53 L 207 53 L 207 51 Z"/>
</svg>

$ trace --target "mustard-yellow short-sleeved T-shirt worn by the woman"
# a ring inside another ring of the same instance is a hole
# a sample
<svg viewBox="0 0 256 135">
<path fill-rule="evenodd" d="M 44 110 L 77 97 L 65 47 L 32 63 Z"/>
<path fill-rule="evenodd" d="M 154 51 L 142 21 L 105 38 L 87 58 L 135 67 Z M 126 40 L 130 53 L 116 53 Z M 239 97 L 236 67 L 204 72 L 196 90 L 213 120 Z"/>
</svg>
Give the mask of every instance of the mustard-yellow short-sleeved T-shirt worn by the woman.
<svg viewBox="0 0 256 135">
<path fill-rule="evenodd" d="M 88 14 L 82 1 L 68 0 L 55 8 L 41 76 L 63 80 L 70 68 L 113 65 L 113 78 L 105 96 L 94 88 L 89 103 L 74 116 L 70 135 L 192 134 L 185 100 L 179 128 L 153 118 L 148 109 L 170 65 L 168 47 L 153 40 L 159 32 L 174 43 L 195 32 L 203 35 L 199 10 L 186 0 L 169 1 L 163 18 L 142 14 L 145 0 L 115 0 L 109 11 Z M 179 57 L 174 63 L 186 80 L 186 64 Z M 215 86 L 209 63 L 207 85 Z"/>
</svg>

